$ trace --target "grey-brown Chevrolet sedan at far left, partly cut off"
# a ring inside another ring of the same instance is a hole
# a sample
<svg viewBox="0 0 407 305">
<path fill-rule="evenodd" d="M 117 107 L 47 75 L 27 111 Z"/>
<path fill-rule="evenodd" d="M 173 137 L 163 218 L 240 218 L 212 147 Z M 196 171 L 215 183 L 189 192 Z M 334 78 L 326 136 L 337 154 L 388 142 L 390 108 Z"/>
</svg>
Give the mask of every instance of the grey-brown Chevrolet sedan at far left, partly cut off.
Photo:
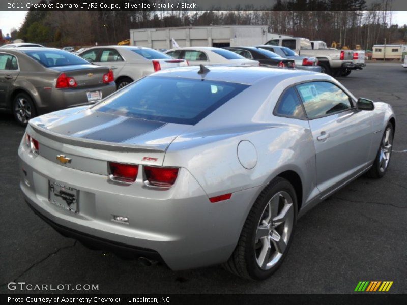
<svg viewBox="0 0 407 305">
<path fill-rule="evenodd" d="M 39 114 L 94 103 L 115 91 L 113 72 L 66 51 L 0 49 L 0 111 L 20 125 Z"/>
</svg>

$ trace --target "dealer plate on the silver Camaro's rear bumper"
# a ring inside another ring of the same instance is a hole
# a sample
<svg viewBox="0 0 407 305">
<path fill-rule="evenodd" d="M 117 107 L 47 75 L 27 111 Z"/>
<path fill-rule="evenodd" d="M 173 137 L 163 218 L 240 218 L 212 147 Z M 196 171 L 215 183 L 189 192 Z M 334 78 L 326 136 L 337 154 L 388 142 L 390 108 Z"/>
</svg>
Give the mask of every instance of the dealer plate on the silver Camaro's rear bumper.
<svg viewBox="0 0 407 305">
<path fill-rule="evenodd" d="M 59 182 L 48 181 L 49 202 L 76 213 L 78 211 L 78 198 L 79 191 L 77 189 L 64 186 Z"/>
</svg>

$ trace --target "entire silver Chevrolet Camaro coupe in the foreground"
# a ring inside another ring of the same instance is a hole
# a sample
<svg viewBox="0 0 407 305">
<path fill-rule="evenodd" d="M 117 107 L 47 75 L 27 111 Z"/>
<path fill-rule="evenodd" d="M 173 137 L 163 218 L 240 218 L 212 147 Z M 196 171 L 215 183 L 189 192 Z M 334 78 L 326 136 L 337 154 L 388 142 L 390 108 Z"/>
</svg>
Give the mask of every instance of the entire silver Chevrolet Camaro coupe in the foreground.
<svg viewBox="0 0 407 305">
<path fill-rule="evenodd" d="M 20 187 L 85 245 L 261 280 L 306 210 L 363 173 L 385 174 L 395 124 L 390 105 L 322 73 L 169 69 L 31 119 Z"/>
</svg>

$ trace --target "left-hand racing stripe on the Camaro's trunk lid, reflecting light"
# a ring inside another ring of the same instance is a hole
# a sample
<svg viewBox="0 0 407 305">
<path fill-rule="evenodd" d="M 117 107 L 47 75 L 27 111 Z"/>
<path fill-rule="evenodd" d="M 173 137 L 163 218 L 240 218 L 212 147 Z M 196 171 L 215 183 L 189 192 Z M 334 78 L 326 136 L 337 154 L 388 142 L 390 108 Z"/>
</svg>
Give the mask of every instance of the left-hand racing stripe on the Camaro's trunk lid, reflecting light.
<svg viewBox="0 0 407 305">
<path fill-rule="evenodd" d="M 49 130 L 62 135 L 70 136 L 77 132 L 109 123 L 109 121 L 117 118 L 118 116 L 102 112 L 94 112 L 90 115 L 80 116 L 77 119 L 74 119 L 72 116 L 68 116 L 66 123 L 61 122 L 61 124 L 51 127 Z"/>
</svg>

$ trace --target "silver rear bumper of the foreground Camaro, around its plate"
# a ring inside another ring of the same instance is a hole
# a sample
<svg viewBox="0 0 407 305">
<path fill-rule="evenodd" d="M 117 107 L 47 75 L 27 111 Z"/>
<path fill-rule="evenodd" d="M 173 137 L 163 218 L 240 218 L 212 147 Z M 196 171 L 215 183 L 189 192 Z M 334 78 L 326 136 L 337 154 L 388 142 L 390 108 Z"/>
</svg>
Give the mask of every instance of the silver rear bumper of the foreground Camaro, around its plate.
<svg viewBox="0 0 407 305">
<path fill-rule="evenodd" d="M 115 185 L 107 176 L 33 157 L 25 144 L 18 154 L 20 189 L 26 201 L 57 231 L 96 243 L 97 248 L 162 258 L 173 270 L 225 262 L 261 191 L 261 186 L 238 191 L 229 200 L 213 204 L 184 168 L 171 189 L 157 191 L 137 181 L 131 186 Z M 49 181 L 79 190 L 77 213 L 49 202 Z M 129 223 L 113 221 L 113 215 L 128 217 Z"/>
</svg>

